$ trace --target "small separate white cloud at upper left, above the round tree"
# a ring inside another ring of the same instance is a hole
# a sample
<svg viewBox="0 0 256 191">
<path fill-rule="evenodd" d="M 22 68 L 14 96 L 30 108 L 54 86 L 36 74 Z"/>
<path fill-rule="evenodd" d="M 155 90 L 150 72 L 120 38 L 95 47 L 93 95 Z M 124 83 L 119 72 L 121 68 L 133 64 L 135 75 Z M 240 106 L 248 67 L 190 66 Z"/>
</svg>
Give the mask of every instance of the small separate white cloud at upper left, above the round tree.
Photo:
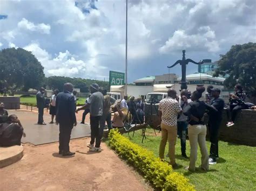
<svg viewBox="0 0 256 191">
<path fill-rule="evenodd" d="M 19 29 L 29 30 L 29 31 L 38 31 L 43 34 L 50 34 L 51 26 L 46 25 L 44 23 L 40 24 L 33 24 L 32 22 L 29 22 L 25 18 L 22 18 L 22 20 L 18 23 Z"/>
</svg>

